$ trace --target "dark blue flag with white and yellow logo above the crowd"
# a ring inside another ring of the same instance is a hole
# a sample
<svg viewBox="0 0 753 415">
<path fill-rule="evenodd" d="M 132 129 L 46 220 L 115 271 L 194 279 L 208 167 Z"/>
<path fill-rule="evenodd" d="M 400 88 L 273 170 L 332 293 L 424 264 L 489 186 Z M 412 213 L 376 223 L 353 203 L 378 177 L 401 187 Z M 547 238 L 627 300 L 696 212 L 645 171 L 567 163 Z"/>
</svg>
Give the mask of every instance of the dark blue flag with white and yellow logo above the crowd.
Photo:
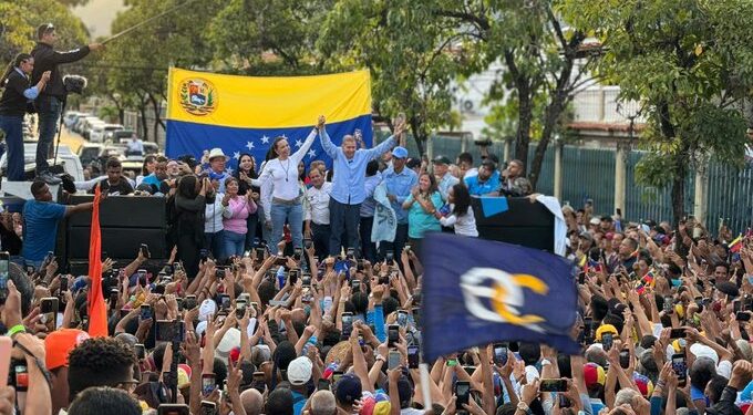
<svg viewBox="0 0 753 415">
<path fill-rule="evenodd" d="M 546 343 L 577 353 L 574 267 L 516 245 L 430 234 L 422 247 L 426 361 L 501 341 Z"/>
</svg>

